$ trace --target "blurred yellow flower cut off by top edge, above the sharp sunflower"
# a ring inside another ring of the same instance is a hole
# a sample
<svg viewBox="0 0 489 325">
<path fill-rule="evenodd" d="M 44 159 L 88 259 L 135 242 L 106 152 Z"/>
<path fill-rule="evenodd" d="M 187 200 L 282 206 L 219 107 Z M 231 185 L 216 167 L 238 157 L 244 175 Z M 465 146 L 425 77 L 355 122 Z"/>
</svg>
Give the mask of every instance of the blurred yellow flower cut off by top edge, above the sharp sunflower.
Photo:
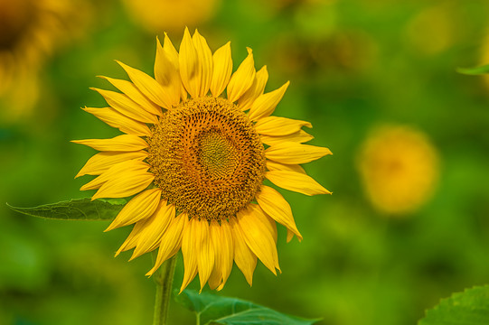
<svg viewBox="0 0 489 325">
<path fill-rule="evenodd" d="M 148 32 L 179 32 L 185 26 L 205 23 L 216 13 L 221 0 L 124 0 L 135 23 Z"/>
</svg>

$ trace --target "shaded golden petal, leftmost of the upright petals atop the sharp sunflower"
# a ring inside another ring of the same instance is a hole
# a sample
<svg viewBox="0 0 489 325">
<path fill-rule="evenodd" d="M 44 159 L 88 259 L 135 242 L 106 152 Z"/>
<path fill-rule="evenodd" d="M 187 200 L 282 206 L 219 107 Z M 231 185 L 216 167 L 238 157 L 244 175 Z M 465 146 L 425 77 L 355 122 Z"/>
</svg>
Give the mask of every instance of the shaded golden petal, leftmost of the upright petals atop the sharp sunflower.
<svg viewBox="0 0 489 325">
<path fill-rule="evenodd" d="M 180 103 L 182 81 L 178 66 L 168 57 L 166 51 L 156 38 L 155 79 L 168 94 L 170 104 L 174 107 Z"/>
</svg>

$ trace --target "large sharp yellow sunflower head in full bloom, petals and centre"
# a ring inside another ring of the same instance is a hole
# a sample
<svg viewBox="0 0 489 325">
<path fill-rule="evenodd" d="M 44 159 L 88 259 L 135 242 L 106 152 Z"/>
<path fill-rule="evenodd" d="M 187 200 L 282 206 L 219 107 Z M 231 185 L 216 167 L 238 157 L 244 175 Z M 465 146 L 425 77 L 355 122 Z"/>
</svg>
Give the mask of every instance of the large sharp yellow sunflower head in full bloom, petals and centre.
<svg viewBox="0 0 489 325">
<path fill-rule="evenodd" d="M 300 164 L 331 152 L 303 144 L 309 122 L 271 116 L 288 82 L 264 93 L 267 68 L 255 70 L 251 49 L 232 73 L 230 42 L 212 54 L 198 31 L 185 29 L 179 52 L 166 34 L 156 47 L 155 79 L 118 62 L 131 81 L 102 77 L 121 92 L 95 89 L 109 107 L 84 108 L 125 135 L 73 141 L 100 151 L 77 175 L 99 175 L 81 190 L 98 189 L 92 200 L 134 196 L 106 231 L 134 224 L 116 255 L 158 248 L 147 275 L 179 250 L 182 290 L 196 274 L 201 288 L 220 290 L 233 261 L 250 285 L 257 259 L 277 274 L 276 221 L 287 241 L 302 236 L 287 200 L 263 181 L 330 193 Z"/>
</svg>

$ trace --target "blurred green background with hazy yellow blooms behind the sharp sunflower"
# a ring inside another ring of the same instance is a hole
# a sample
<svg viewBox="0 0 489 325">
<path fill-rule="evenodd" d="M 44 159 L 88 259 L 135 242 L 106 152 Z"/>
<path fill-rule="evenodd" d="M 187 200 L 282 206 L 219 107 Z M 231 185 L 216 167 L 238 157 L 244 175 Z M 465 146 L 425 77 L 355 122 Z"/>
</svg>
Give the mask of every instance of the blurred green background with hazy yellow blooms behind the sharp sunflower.
<svg viewBox="0 0 489 325">
<path fill-rule="evenodd" d="M 313 122 L 334 153 L 306 165 L 332 196 L 282 190 L 304 240 L 283 274 L 235 267 L 219 294 L 319 324 L 414 324 L 451 292 L 489 282 L 489 63 L 486 0 L 0 0 L 0 324 L 148 324 L 150 256 L 113 258 L 129 228 L 52 221 L 18 207 L 83 198 L 94 151 L 72 139 L 118 135 L 80 107 L 89 87 L 152 74 L 155 36 L 178 47 L 198 28 L 234 68 L 255 53 L 267 91 L 291 85 L 277 116 Z M 183 278 L 180 259 L 175 286 Z M 198 281 L 190 287 L 196 288 Z M 172 303 L 173 324 L 193 314 Z"/>
</svg>

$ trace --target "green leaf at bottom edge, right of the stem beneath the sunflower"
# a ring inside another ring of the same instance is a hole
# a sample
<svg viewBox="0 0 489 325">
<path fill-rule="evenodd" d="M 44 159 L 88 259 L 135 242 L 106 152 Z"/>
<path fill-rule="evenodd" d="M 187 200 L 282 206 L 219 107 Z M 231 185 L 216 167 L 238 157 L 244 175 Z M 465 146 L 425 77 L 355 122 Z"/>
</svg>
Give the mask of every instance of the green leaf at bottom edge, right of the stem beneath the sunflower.
<svg viewBox="0 0 489 325">
<path fill-rule="evenodd" d="M 184 290 L 175 300 L 197 314 L 197 324 L 311 325 L 316 320 L 288 316 L 253 302 Z"/>
</svg>

